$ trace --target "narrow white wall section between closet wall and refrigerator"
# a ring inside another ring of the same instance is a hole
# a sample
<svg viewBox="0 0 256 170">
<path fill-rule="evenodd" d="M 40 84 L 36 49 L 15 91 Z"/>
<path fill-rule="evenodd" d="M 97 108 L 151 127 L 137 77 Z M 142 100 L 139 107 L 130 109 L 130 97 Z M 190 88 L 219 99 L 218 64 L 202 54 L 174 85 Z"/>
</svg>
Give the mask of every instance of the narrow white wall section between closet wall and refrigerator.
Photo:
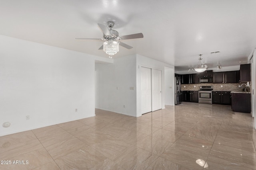
<svg viewBox="0 0 256 170">
<path fill-rule="evenodd" d="M 174 106 L 174 69 L 164 67 L 164 89 L 165 89 L 165 105 Z"/>
</svg>

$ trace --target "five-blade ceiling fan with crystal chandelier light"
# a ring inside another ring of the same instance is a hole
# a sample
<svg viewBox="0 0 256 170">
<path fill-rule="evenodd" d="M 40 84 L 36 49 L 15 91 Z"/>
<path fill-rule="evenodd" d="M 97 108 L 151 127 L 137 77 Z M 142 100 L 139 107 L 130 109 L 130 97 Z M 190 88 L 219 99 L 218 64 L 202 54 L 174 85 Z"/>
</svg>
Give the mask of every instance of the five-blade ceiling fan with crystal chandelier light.
<svg viewBox="0 0 256 170">
<path fill-rule="evenodd" d="M 126 43 L 121 42 L 121 40 L 125 39 L 136 39 L 136 38 L 143 38 L 142 33 L 136 33 L 136 34 L 130 34 L 130 35 L 123 35 L 119 36 L 118 31 L 112 29 L 114 26 L 113 21 L 108 21 L 106 25 L 103 25 L 101 23 L 98 23 L 100 30 L 103 33 L 103 38 L 97 39 L 97 38 L 76 38 L 76 39 L 90 39 L 90 40 L 100 40 L 104 41 L 103 45 L 99 48 L 99 50 L 104 50 L 108 55 L 111 56 L 116 54 L 119 51 L 119 45 L 126 49 L 132 49 L 133 47 L 130 45 L 127 45 Z M 109 28 L 109 29 L 108 29 Z"/>
</svg>

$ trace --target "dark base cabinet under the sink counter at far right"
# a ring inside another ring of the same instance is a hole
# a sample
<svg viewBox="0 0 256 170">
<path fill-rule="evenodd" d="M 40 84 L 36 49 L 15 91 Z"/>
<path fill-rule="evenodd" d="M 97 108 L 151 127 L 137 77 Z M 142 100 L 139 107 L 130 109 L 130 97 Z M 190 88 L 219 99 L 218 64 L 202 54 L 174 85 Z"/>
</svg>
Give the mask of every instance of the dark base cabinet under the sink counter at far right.
<svg viewBox="0 0 256 170">
<path fill-rule="evenodd" d="M 251 113 L 251 94 L 232 93 L 232 111 Z"/>
</svg>

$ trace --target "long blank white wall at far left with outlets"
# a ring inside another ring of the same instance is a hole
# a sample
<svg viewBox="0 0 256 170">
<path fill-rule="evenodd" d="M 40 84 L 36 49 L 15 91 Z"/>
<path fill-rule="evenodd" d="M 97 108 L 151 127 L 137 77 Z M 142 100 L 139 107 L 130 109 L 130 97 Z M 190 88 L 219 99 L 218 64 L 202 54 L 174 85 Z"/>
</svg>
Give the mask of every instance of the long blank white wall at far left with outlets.
<svg viewBox="0 0 256 170">
<path fill-rule="evenodd" d="M 0 136 L 95 115 L 93 56 L 2 35 L 0 47 Z"/>
</svg>

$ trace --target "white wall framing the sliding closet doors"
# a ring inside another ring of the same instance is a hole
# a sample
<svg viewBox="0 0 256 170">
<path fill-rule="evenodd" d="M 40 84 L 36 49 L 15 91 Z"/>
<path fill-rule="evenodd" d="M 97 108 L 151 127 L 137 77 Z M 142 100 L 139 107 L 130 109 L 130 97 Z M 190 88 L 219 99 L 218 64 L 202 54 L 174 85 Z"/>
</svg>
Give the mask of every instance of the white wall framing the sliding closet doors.
<svg viewBox="0 0 256 170">
<path fill-rule="evenodd" d="M 144 66 L 147 68 L 154 68 L 157 70 L 161 70 L 162 71 L 162 109 L 164 109 L 164 105 L 165 105 L 165 95 L 166 95 L 166 90 L 165 90 L 165 67 L 169 67 L 174 69 L 174 66 L 170 65 L 170 64 L 166 64 L 160 61 L 156 61 L 154 59 L 150 59 L 148 57 L 144 57 L 142 55 L 136 55 L 136 84 L 137 84 L 137 94 L 136 94 L 136 117 L 141 116 L 141 71 L 140 71 L 140 67 Z M 170 79 L 174 79 L 174 74 L 170 77 Z M 172 88 L 173 90 L 173 88 Z M 173 90 L 173 95 L 172 97 L 174 98 L 174 90 Z"/>
</svg>

